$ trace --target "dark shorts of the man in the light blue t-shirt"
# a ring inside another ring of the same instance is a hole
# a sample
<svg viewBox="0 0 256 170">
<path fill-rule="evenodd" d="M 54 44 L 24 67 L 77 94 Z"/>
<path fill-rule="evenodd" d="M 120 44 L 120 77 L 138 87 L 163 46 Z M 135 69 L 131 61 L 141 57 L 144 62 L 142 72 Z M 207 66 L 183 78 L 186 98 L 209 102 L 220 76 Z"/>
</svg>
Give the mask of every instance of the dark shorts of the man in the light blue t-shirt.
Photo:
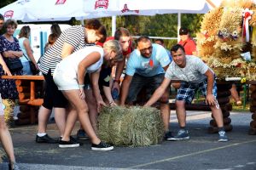
<svg viewBox="0 0 256 170">
<path fill-rule="evenodd" d="M 145 96 L 145 99 L 149 99 L 151 95 L 154 94 L 154 90 L 160 87 L 160 84 L 163 82 L 164 78 L 165 73 L 155 75 L 154 77 L 143 77 L 141 75 L 135 74 L 131 80 L 126 102 L 131 103 L 136 101 L 137 94 L 142 89 L 146 90 L 147 96 Z"/>
</svg>

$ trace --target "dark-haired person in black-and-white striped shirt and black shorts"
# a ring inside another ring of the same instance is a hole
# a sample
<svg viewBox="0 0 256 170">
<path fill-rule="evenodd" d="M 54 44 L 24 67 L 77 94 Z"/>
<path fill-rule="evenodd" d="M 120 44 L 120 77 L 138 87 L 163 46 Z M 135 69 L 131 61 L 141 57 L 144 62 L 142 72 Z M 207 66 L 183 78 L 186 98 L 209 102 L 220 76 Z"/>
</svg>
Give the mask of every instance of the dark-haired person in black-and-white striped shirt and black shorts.
<svg viewBox="0 0 256 170">
<path fill-rule="evenodd" d="M 105 26 L 99 20 L 87 20 L 85 26 L 72 26 L 61 32 L 54 45 L 40 58 L 39 69 L 42 71 L 45 82 L 44 103 L 38 112 L 37 143 L 55 143 L 46 133 L 47 122 L 51 110 L 55 110 L 55 122 L 63 136 L 66 128 L 67 99 L 53 81 L 53 72 L 57 64 L 68 55 L 73 54 L 88 43 L 104 42 L 107 37 Z M 100 103 L 101 99 L 98 99 Z M 95 104 L 93 104 L 95 105 Z M 96 113 L 94 113 L 96 114 Z M 71 130 L 73 127 L 70 127 Z"/>
</svg>

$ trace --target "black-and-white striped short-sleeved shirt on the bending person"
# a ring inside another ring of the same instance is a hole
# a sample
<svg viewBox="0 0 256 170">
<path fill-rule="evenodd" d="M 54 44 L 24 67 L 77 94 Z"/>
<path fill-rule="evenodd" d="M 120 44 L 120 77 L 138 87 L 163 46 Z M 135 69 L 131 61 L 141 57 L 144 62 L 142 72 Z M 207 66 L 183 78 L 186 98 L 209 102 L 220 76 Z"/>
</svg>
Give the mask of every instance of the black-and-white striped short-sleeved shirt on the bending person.
<svg viewBox="0 0 256 170">
<path fill-rule="evenodd" d="M 56 65 L 62 60 L 61 51 L 64 42 L 73 46 L 73 53 L 84 48 L 84 27 L 72 26 L 62 31 L 61 36 L 57 39 L 55 44 L 49 48 L 40 59 L 39 70 L 42 71 L 43 74 L 47 74 L 50 69 L 51 75 L 53 75 Z"/>
</svg>

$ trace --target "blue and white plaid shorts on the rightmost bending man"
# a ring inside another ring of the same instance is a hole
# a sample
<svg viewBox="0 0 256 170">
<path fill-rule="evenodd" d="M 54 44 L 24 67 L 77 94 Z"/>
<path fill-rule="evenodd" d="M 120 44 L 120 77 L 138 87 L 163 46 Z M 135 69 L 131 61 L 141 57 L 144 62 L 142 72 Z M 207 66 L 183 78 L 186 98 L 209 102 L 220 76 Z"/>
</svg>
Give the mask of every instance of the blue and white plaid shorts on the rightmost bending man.
<svg viewBox="0 0 256 170">
<path fill-rule="evenodd" d="M 200 83 L 182 82 L 181 87 L 177 90 L 176 100 L 183 100 L 186 104 L 191 104 L 198 89 L 205 97 L 207 96 L 207 79 Z M 216 81 L 213 82 L 212 94 L 217 99 Z"/>
</svg>

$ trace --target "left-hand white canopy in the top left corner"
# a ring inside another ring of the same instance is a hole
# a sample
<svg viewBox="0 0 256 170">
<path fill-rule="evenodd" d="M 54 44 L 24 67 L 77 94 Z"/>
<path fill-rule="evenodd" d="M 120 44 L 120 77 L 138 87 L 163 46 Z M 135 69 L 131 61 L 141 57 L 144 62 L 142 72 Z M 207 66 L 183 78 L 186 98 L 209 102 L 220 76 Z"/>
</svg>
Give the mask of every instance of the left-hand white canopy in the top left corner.
<svg viewBox="0 0 256 170">
<path fill-rule="evenodd" d="M 18 0 L 0 8 L 0 14 L 5 19 L 12 18 L 23 22 L 88 18 L 88 14 L 84 12 L 84 0 Z"/>
</svg>

